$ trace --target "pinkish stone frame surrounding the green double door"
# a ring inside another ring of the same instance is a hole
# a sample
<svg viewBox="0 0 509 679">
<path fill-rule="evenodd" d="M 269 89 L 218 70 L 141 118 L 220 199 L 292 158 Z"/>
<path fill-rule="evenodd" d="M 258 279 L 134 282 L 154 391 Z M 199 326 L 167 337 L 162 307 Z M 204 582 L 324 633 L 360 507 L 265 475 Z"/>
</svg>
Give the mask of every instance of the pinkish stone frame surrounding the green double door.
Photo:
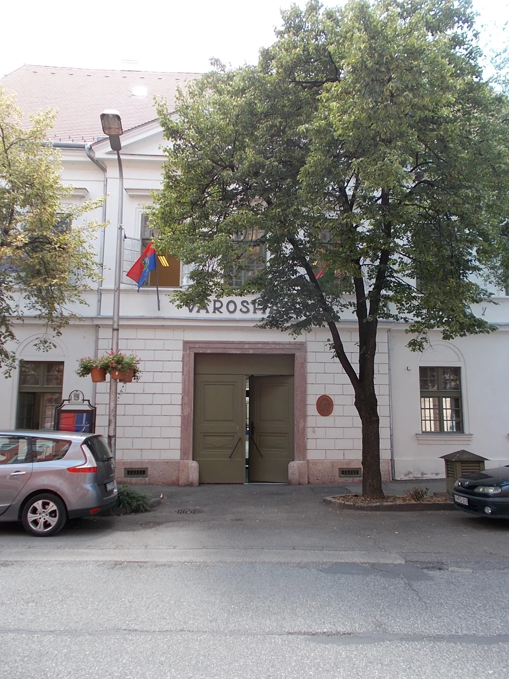
<svg viewBox="0 0 509 679">
<path fill-rule="evenodd" d="M 307 483 L 306 345 L 304 342 L 198 342 L 184 340 L 182 356 L 181 460 L 193 460 L 195 354 L 293 354 L 295 377 L 295 462 L 290 483 Z M 305 464 L 298 464 L 304 462 Z M 297 464 L 296 464 L 297 463 Z M 304 467 L 306 468 L 304 470 Z M 304 473 L 305 471 L 305 473 Z M 296 477 L 295 479 L 293 477 Z M 304 479 L 305 476 L 305 479 Z"/>
</svg>

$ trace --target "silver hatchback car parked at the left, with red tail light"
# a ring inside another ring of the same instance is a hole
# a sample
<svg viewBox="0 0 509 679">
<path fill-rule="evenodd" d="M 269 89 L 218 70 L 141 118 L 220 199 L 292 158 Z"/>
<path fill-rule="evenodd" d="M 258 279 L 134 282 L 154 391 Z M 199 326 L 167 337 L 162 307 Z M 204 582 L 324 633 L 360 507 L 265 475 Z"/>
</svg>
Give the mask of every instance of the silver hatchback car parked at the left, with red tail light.
<svg viewBox="0 0 509 679">
<path fill-rule="evenodd" d="M 50 536 L 67 519 L 111 509 L 116 500 L 115 462 L 102 436 L 0 430 L 0 521 Z"/>
</svg>

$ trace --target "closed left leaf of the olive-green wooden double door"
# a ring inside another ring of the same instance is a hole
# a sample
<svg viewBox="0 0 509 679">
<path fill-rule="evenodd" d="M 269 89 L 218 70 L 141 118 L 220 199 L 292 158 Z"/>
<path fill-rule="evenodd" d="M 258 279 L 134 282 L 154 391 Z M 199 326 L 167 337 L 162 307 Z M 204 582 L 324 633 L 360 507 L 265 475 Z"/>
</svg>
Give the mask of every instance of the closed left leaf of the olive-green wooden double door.
<svg viewBox="0 0 509 679">
<path fill-rule="evenodd" d="M 244 483 L 244 375 L 195 375 L 193 460 L 200 483 Z"/>
</svg>

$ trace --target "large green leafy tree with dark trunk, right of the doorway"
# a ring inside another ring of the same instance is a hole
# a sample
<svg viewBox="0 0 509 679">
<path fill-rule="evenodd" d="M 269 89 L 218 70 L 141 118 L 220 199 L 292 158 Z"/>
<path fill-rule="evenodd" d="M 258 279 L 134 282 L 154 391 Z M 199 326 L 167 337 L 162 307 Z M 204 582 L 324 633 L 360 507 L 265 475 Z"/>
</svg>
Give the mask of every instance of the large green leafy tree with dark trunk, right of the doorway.
<svg viewBox="0 0 509 679">
<path fill-rule="evenodd" d="M 178 120 L 160 103 L 171 145 L 151 219 L 157 247 L 193 266 L 178 304 L 231 294 L 266 249 L 241 292 L 262 327 L 328 328 L 362 422 L 363 494 L 379 498 L 379 320 L 406 322 L 413 350 L 430 329 L 492 329 L 472 305 L 507 268 L 507 100 L 483 81 L 462 0 L 312 2 L 283 20 L 256 67 L 192 84 Z"/>
</svg>

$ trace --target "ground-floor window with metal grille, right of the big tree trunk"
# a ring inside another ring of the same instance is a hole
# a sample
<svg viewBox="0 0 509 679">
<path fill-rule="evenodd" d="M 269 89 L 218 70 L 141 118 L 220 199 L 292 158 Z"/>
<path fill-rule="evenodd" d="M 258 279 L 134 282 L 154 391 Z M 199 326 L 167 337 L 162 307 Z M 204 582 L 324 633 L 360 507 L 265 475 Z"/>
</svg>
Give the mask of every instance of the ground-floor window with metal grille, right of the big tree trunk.
<svg viewBox="0 0 509 679">
<path fill-rule="evenodd" d="M 461 369 L 419 367 L 423 432 L 463 431 Z"/>
</svg>

